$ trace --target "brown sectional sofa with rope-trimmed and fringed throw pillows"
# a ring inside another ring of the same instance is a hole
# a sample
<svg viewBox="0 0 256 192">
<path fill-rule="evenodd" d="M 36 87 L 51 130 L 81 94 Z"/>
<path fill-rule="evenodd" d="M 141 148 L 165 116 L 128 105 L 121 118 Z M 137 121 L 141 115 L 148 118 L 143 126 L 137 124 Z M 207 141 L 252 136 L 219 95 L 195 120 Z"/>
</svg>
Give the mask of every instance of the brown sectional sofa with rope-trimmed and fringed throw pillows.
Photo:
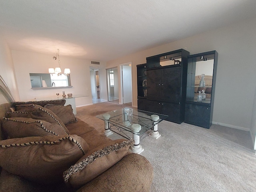
<svg viewBox="0 0 256 192">
<path fill-rule="evenodd" d="M 133 141 L 110 140 L 73 116 L 63 102 L 0 105 L 0 190 L 150 191 L 153 168 L 129 152 Z"/>
</svg>

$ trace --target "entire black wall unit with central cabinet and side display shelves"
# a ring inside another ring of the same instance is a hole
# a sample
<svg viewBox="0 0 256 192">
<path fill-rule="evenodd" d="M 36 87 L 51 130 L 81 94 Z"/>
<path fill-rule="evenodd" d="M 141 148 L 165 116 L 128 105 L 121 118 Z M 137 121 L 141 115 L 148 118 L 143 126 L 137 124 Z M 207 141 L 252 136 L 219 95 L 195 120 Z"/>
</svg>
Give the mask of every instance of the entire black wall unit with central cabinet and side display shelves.
<svg viewBox="0 0 256 192">
<path fill-rule="evenodd" d="M 184 49 L 147 57 L 137 65 L 138 109 L 210 128 L 217 59 L 216 51 L 190 55 Z"/>
</svg>

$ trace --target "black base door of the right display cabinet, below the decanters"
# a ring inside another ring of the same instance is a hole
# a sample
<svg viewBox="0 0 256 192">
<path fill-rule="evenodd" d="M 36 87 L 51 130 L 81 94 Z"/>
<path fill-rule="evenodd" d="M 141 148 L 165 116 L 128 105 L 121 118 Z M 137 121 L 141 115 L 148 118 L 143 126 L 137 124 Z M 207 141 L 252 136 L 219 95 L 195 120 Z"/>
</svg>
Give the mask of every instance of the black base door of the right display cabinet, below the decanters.
<svg viewBox="0 0 256 192">
<path fill-rule="evenodd" d="M 210 122 L 210 106 L 186 104 L 185 107 L 185 122 L 210 128 L 212 122 Z"/>
</svg>

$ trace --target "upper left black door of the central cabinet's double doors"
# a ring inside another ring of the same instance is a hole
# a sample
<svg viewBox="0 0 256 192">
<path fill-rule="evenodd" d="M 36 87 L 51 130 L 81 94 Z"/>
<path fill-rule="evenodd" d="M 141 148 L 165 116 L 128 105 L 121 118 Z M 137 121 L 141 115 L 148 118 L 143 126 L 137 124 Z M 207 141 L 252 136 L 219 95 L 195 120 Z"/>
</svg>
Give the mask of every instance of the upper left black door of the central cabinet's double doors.
<svg viewBox="0 0 256 192">
<path fill-rule="evenodd" d="M 147 98 L 161 98 L 161 69 L 147 70 Z"/>
</svg>

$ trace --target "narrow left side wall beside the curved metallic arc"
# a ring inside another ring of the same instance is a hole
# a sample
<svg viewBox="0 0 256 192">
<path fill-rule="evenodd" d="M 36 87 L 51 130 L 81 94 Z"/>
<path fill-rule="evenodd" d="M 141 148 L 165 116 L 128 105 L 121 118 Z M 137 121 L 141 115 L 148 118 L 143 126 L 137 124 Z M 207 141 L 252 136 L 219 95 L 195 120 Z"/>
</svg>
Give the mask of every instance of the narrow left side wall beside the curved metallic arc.
<svg viewBox="0 0 256 192">
<path fill-rule="evenodd" d="M 11 50 L 5 40 L 0 35 L 0 75 L 10 89 L 14 100 L 19 100 L 19 92 L 16 86 L 14 66 L 12 62 Z"/>
</svg>

